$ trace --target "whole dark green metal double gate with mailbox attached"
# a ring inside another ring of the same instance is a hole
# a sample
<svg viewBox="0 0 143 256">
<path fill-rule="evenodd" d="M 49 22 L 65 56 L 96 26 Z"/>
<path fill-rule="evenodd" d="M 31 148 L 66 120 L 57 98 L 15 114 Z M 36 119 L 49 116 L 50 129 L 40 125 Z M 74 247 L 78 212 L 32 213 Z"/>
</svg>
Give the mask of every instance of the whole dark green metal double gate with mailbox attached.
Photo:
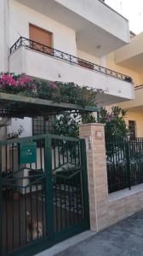
<svg viewBox="0 0 143 256">
<path fill-rule="evenodd" d="M 0 255 L 33 255 L 89 229 L 85 141 L 0 143 Z"/>
</svg>

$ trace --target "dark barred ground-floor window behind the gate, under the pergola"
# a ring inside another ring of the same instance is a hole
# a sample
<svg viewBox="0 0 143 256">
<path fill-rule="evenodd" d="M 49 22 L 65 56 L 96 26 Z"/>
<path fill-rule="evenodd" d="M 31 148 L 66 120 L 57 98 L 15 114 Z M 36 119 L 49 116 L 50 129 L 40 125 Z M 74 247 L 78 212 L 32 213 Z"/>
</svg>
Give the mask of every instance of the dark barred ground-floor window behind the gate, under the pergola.
<svg viewBox="0 0 143 256">
<path fill-rule="evenodd" d="M 32 133 L 39 135 L 53 131 L 54 116 L 44 119 L 42 116 L 32 119 Z"/>
</svg>

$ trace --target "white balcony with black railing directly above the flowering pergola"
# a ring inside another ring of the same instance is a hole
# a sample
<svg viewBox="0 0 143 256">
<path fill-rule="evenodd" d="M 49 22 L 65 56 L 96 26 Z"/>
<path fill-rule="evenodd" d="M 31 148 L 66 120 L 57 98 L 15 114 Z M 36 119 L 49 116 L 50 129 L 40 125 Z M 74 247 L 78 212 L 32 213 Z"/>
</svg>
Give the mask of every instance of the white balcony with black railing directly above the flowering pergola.
<svg viewBox="0 0 143 256">
<path fill-rule="evenodd" d="M 27 38 L 19 38 L 11 47 L 9 69 L 36 79 L 74 82 L 104 90 L 105 94 L 99 98 L 102 104 L 123 102 L 134 97 L 129 76 Z"/>
</svg>

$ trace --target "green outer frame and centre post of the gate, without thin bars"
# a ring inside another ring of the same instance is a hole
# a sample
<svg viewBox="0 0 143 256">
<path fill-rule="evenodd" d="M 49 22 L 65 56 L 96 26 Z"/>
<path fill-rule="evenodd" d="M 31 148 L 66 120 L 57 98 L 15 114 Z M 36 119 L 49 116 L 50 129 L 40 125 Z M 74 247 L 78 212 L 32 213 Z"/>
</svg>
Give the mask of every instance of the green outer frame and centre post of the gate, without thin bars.
<svg viewBox="0 0 143 256">
<path fill-rule="evenodd" d="M 73 138 L 73 137 L 63 137 L 52 134 L 43 134 L 39 136 L 33 137 L 23 137 L 17 139 L 11 139 L 9 141 L 0 142 L 0 166 L 2 170 L 2 146 L 9 143 L 21 143 L 28 140 L 33 139 L 44 139 L 44 147 L 45 147 L 45 174 L 46 174 L 46 196 L 47 196 L 47 204 L 46 204 L 46 231 L 48 231 L 48 236 L 43 239 L 37 241 L 31 241 L 30 244 L 27 244 L 24 247 L 20 247 L 12 253 L 3 254 L 3 247 L 1 249 L 1 255 L 3 256 L 31 256 L 37 253 L 42 252 L 43 250 L 53 246 L 54 244 L 66 240 L 71 236 L 75 236 L 84 230 L 89 230 L 89 189 L 88 189 L 88 174 L 87 174 L 87 161 L 86 161 L 86 145 L 85 140 L 81 138 Z M 72 224 L 71 227 L 66 228 L 65 230 L 61 230 L 60 232 L 54 232 L 54 211 L 53 211 L 53 187 L 52 187 L 52 147 L 51 141 L 52 138 L 66 139 L 68 141 L 76 141 L 81 145 L 81 159 L 83 170 L 83 206 L 85 210 L 85 218 L 80 224 Z M 47 172 L 46 172 L 47 170 Z M 50 171 L 48 171 L 50 170 Z M 0 172 L 0 177 L 2 177 L 2 172 Z M 3 198 L 2 198 L 2 178 L 0 178 L 0 209 L 2 209 Z M 3 222 L 3 213 L 0 210 L 0 246 L 2 245 L 2 222 Z M 49 231 L 50 230 L 50 231 Z"/>
</svg>

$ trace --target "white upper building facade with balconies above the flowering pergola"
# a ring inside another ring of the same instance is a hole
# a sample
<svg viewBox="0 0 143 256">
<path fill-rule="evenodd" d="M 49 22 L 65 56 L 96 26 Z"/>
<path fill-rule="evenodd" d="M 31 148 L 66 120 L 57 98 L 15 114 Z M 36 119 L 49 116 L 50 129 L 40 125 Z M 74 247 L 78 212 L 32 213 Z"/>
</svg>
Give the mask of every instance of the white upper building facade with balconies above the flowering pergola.
<svg viewBox="0 0 143 256">
<path fill-rule="evenodd" d="M 104 106 L 134 98 L 134 72 L 111 54 L 129 44 L 129 21 L 104 1 L 1 0 L 0 7 L 2 72 L 101 89 Z M 8 131 L 19 125 L 31 136 L 31 119 L 12 119 Z"/>
</svg>

